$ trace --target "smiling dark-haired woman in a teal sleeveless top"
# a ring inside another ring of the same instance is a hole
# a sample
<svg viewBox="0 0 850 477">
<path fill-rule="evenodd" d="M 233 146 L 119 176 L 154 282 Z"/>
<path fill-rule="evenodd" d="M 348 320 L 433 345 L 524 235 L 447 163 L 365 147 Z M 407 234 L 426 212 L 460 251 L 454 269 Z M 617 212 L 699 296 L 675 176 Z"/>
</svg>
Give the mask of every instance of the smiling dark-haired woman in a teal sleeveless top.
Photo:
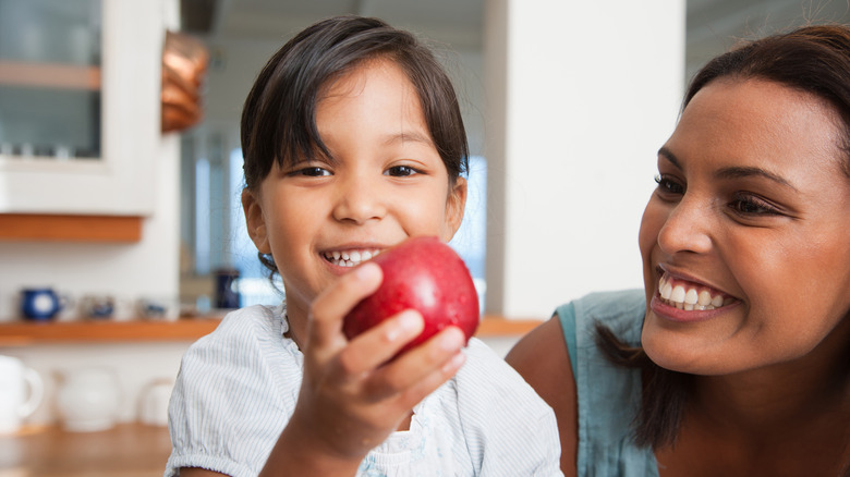
<svg viewBox="0 0 850 477">
<path fill-rule="evenodd" d="M 508 359 L 566 475 L 850 475 L 850 29 L 694 77 L 658 151 L 644 291 L 557 309 Z"/>
</svg>

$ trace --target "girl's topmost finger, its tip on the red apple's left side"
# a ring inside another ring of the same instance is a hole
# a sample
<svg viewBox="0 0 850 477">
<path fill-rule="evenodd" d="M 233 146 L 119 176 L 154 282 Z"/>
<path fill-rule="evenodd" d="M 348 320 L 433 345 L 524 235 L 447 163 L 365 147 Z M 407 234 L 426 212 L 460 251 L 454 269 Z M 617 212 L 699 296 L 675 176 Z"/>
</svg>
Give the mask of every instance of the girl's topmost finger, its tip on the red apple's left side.
<svg viewBox="0 0 850 477">
<path fill-rule="evenodd" d="M 325 289 L 311 306 L 308 342 L 325 346 L 341 337 L 342 318 L 361 299 L 380 286 L 382 273 L 375 264 L 363 264 Z"/>
</svg>

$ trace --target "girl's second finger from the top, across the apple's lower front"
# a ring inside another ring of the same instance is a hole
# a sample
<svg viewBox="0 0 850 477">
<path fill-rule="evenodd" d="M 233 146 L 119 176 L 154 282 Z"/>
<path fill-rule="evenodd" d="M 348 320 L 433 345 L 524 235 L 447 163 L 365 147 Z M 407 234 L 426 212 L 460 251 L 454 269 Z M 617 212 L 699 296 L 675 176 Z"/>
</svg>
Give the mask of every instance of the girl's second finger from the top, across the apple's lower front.
<svg viewBox="0 0 850 477">
<path fill-rule="evenodd" d="M 371 371 L 418 337 L 424 327 L 425 322 L 418 311 L 401 311 L 355 337 L 340 353 L 340 365 L 352 375 Z"/>
</svg>

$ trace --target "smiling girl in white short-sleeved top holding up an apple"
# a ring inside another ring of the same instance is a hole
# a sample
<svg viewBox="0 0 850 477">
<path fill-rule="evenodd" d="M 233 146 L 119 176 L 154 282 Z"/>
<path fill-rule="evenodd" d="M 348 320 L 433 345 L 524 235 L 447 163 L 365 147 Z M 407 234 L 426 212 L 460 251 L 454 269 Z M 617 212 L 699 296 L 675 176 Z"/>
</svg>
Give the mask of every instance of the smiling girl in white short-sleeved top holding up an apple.
<svg viewBox="0 0 850 477">
<path fill-rule="evenodd" d="M 242 145 L 248 233 L 287 299 L 189 350 L 166 475 L 561 475 L 551 409 L 482 342 L 452 327 L 385 364 L 418 313 L 341 332 L 381 281 L 364 261 L 463 216 L 466 138 L 433 54 L 378 20 L 319 22 L 259 73 Z"/>
</svg>

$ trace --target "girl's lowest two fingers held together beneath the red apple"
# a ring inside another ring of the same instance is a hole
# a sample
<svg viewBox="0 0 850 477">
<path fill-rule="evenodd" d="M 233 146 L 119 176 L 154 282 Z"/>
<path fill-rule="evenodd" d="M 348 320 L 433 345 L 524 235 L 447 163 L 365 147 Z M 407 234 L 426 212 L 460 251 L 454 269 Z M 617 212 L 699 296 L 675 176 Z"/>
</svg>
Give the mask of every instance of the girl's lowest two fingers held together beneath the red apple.
<svg viewBox="0 0 850 477">
<path fill-rule="evenodd" d="M 386 397 L 421 389 L 421 386 L 427 389 L 434 382 L 444 382 L 460 368 L 462 362 L 459 364 L 453 359 L 462 359 L 461 348 L 464 342 L 465 337 L 459 328 L 448 327 L 422 345 L 377 369 L 367 384 L 369 393 Z"/>
</svg>

